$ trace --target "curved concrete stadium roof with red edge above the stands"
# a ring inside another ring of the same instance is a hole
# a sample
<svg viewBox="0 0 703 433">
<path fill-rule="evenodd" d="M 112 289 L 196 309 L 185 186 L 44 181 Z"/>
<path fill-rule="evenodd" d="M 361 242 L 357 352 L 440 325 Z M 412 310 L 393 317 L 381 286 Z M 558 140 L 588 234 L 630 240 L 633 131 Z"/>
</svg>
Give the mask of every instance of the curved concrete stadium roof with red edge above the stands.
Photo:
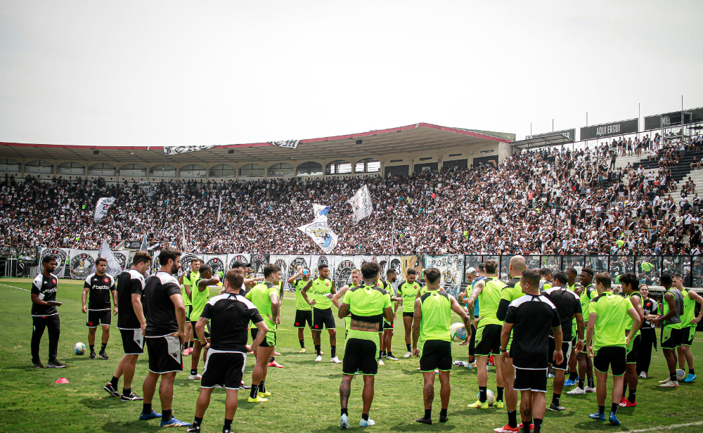
<svg viewBox="0 0 703 433">
<path fill-rule="evenodd" d="M 441 127 L 418 123 L 404 127 L 380 129 L 323 138 L 301 140 L 296 149 L 280 148 L 271 143 L 229 144 L 179 155 L 164 155 L 163 146 L 75 146 L 0 142 L 0 158 L 23 160 L 91 160 L 120 164 L 189 162 L 259 162 L 275 160 L 361 159 L 398 153 L 441 150 L 457 146 L 485 146 L 509 143 L 515 134 Z M 356 144 L 357 141 L 361 143 Z M 99 156 L 94 153 L 98 150 Z M 233 150 L 233 153 L 229 153 Z"/>
</svg>

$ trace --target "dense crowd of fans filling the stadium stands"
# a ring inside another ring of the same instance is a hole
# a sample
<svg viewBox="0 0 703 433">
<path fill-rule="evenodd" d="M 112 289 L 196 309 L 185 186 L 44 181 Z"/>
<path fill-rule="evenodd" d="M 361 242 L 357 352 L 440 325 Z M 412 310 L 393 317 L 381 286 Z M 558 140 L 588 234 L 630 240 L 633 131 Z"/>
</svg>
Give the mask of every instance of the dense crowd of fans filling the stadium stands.
<svg viewBox="0 0 703 433">
<path fill-rule="evenodd" d="M 576 152 L 524 150 L 501 164 L 409 177 L 173 179 L 153 182 L 150 193 L 137 183 L 6 175 L 0 245 L 95 250 L 103 240 L 115 247 L 147 233 L 150 242 L 183 247 L 185 233 L 191 252 L 310 254 L 321 250 L 296 228 L 312 221 L 318 203 L 331 206 L 333 254 L 699 254 L 695 184 L 673 200 L 678 186 L 668 165 L 647 173 L 610 164 L 631 146 L 673 162 L 700 144 L 700 137 L 681 144 L 655 136 Z M 356 224 L 347 200 L 364 183 L 374 212 Z M 96 223 L 101 197 L 116 201 Z"/>
</svg>

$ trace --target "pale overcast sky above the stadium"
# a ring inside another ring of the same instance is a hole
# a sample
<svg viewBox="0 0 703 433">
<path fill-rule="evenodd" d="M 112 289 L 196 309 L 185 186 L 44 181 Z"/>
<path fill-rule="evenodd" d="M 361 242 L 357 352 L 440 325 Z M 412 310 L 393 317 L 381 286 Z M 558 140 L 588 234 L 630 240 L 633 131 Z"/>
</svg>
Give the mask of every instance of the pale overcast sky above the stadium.
<svg viewBox="0 0 703 433">
<path fill-rule="evenodd" d="M 538 4 L 539 6 L 534 6 Z M 702 1 L 1 1 L 0 141 L 523 138 L 703 105 Z M 640 120 L 640 129 L 643 122 Z"/>
</svg>

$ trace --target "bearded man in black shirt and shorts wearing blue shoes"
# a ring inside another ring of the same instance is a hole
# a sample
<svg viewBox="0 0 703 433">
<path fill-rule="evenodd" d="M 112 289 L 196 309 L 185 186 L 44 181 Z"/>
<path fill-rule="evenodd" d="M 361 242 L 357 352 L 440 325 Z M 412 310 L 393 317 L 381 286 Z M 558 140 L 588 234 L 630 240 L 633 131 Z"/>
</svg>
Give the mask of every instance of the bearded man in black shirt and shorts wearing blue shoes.
<svg viewBox="0 0 703 433">
<path fill-rule="evenodd" d="M 183 371 L 181 344 L 186 323 L 186 306 L 183 305 L 178 275 L 181 251 L 165 247 L 159 254 L 161 268 L 146 279 L 143 305 L 146 306 L 146 348 L 149 352 L 149 373 L 143 384 L 144 408 L 140 420 L 161 417 L 161 427 L 190 427 L 190 422 L 177 420 L 173 415 L 174 379 Z M 151 407 L 156 383 L 162 413 Z"/>
</svg>

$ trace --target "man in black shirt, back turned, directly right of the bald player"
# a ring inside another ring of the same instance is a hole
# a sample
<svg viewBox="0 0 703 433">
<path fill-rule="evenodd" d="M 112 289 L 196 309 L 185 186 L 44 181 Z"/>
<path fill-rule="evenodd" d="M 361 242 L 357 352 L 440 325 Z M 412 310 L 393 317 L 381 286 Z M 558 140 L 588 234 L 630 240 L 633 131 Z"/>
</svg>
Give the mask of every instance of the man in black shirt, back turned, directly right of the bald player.
<svg viewBox="0 0 703 433">
<path fill-rule="evenodd" d="M 524 296 L 510 302 L 505 314 L 501 332 L 501 361 L 496 365 L 501 362 L 508 364 L 508 359 L 512 359 L 515 366 L 514 388 L 520 391 L 522 431 L 529 432 L 534 419 L 534 433 L 540 433 L 549 360 L 553 359 L 557 366 L 564 361 L 562 328 L 555 305 L 548 297 L 540 295 L 537 269 L 522 273 L 520 289 Z M 550 331 L 555 341 L 552 353 L 548 353 Z M 510 340 L 512 345 L 509 347 Z"/>
</svg>

